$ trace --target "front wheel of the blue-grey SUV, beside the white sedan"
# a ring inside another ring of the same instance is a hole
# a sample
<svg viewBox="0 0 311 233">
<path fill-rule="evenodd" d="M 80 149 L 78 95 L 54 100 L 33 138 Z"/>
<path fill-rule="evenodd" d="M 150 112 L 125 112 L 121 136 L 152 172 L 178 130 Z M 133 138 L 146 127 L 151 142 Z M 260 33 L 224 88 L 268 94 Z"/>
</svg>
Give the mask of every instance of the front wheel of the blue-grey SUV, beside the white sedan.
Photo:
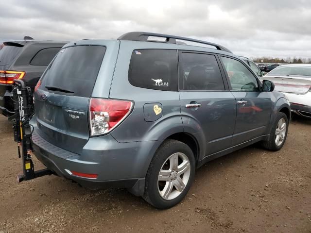
<svg viewBox="0 0 311 233">
<path fill-rule="evenodd" d="M 278 113 L 276 121 L 270 132 L 268 141 L 263 142 L 263 147 L 268 150 L 280 150 L 286 140 L 288 130 L 288 119 L 284 113 Z"/>
</svg>

